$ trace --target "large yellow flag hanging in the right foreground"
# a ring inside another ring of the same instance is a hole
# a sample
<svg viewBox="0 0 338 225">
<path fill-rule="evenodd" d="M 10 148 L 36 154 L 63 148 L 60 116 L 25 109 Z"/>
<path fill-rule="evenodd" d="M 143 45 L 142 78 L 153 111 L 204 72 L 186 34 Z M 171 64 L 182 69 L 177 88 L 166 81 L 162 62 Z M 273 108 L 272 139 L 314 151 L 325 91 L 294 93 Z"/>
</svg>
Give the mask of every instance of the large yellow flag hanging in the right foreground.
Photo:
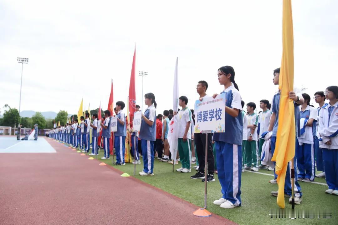
<svg viewBox="0 0 338 225">
<path fill-rule="evenodd" d="M 279 106 L 278 130 L 276 149 L 272 161 L 276 162 L 278 184 L 277 204 L 285 208 L 284 185 L 288 162 L 295 155 L 295 116 L 294 103 L 289 99 L 289 92 L 293 91 L 293 25 L 291 0 L 283 0 L 283 53 L 279 75 L 279 89 L 281 99 Z"/>
</svg>

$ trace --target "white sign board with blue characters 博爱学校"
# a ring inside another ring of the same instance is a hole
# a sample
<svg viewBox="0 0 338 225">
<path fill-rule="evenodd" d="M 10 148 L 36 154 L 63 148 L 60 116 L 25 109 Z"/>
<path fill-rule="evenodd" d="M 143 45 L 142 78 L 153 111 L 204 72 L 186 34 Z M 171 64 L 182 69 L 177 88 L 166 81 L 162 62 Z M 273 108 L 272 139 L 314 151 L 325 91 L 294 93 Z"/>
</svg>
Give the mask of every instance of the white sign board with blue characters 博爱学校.
<svg viewBox="0 0 338 225">
<path fill-rule="evenodd" d="M 225 93 L 195 102 L 195 133 L 225 132 Z"/>
</svg>

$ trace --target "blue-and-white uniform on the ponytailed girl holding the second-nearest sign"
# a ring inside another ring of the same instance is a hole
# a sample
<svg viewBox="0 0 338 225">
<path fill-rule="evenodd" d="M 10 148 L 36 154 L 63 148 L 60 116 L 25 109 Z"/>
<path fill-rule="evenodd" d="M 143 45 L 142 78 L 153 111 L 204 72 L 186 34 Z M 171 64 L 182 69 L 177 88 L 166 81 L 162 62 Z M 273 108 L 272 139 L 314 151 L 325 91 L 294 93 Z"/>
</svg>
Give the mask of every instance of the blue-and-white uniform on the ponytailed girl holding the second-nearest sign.
<svg viewBox="0 0 338 225">
<path fill-rule="evenodd" d="M 140 139 L 143 157 L 143 171 L 148 174 L 154 169 L 154 144 L 156 140 L 156 111 L 153 105 L 149 106 L 144 114 L 147 119 L 153 121 L 149 126 L 144 119 L 141 121 Z"/>
</svg>

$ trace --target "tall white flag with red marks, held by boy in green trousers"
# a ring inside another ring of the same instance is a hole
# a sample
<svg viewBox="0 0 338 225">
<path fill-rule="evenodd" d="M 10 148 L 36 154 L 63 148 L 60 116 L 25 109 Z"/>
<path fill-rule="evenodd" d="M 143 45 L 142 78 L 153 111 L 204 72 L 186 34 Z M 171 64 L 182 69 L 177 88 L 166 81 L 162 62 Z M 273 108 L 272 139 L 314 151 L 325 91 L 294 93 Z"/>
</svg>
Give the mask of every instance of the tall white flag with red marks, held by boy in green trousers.
<svg viewBox="0 0 338 225">
<path fill-rule="evenodd" d="M 177 79 L 178 57 L 176 58 L 174 85 L 173 85 L 173 102 L 172 107 L 174 112 L 178 109 L 178 79 Z M 178 147 L 178 132 L 177 132 L 177 116 L 171 118 L 168 131 L 168 142 L 171 158 L 176 161 L 176 152 Z"/>
</svg>

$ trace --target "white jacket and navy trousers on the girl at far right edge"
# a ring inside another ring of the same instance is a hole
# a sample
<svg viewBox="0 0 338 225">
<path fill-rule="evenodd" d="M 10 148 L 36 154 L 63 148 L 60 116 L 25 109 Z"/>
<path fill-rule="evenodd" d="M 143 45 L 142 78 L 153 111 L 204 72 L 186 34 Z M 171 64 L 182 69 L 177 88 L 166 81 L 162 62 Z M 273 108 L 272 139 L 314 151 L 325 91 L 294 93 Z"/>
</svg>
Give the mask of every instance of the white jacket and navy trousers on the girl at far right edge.
<svg viewBox="0 0 338 225">
<path fill-rule="evenodd" d="M 325 180 L 329 189 L 338 190 L 338 102 L 319 112 L 319 147 L 323 150 Z M 331 141 L 331 144 L 326 144 Z"/>
</svg>

